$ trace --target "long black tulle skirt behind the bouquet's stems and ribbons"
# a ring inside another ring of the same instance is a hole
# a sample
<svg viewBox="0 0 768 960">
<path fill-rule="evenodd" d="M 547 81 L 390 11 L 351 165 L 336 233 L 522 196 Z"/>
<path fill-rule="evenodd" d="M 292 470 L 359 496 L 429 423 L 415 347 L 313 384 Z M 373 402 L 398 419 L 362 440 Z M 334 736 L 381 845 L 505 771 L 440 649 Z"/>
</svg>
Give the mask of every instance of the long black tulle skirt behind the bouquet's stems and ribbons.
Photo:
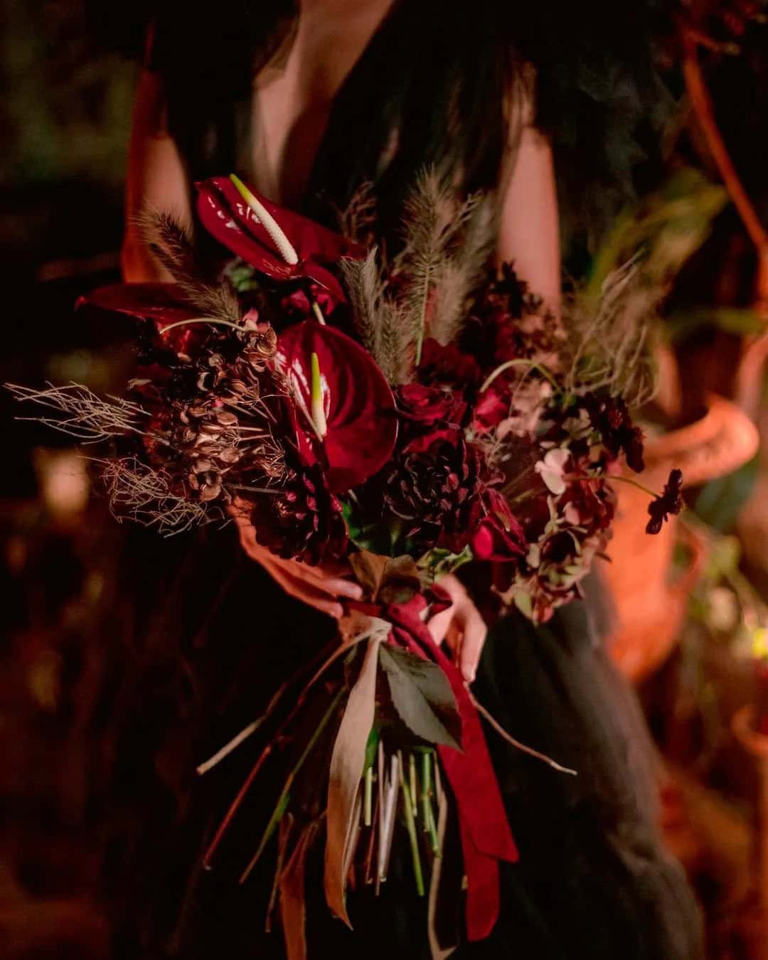
<svg viewBox="0 0 768 960">
<path fill-rule="evenodd" d="M 238 883 L 279 782 L 265 775 L 256 783 L 251 808 L 238 818 L 215 869 L 204 871 L 204 847 L 258 745 L 244 745 L 204 780 L 190 778 L 189 770 L 258 715 L 332 626 L 284 597 L 253 564 L 241 565 L 213 615 L 204 612 L 210 590 L 193 597 L 184 589 L 193 608 L 187 617 L 205 619 L 204 639 L 199 632 L 181 666 L 167 666 L 194 678 L 186 707 L 168 708 L 163 717 L 160 706 L 159 717 L 156 709 L 152 722 L 137 721 L 123 737 L 128 766 L 122 776 L 133 791 L 126 810 L 135 816 L 116 831 L 108 859 L 115 955 L 282 957 L 278 921 L 265 932 L 274 852 L 247 883 Z M 700 957 L 697 905 L 681 868 L 661 846 L 655 754 L 634 695 L 595 638 L 586 606 L 573 604 L 539 628 L 519 615 L 499 622 L 473 690 L 519 740 L 578 776 L 558 773 L 487 731 L 520 859 L 502 865 L 502 910 L 492 936 L 460 944 L 455 955 Z M 157 689 L 145 689 L 136 715 L 158 697 Z M 142 778 L 144 788 L 136 785 Z M 451 856 L 452 846 L 444 873 L 455 875 L 461 939 L 461 860 Z M 426 905 L 416 895 L 407 854 L 407 844 L 399 844 L 380 897 L 370 889 L 349 895 L 349 931 L 324 904 L 318 845 L 307 864 L 309 960 L 430 956 Z"/>
</svg>

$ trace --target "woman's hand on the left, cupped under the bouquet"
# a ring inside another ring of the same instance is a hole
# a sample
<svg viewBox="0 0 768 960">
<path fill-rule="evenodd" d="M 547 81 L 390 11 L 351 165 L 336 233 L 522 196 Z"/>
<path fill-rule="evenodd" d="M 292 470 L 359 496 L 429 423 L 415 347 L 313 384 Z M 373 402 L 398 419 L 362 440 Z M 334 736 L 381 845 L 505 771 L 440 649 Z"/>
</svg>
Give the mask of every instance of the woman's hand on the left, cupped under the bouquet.
<svg viewBox="0 0 768 960">
<path fill-rule="evenodd" d="M 346 579 L 347 564 L 310 566 L 298 560 L 282 560 L 271 550 L 256 542 L 256 531 L 243 511 L 233 510 L 240 543 L 252 560 L 261 564 L 286 593 L 302 603 L 338 619 L 344 614 L 340 600 L 359 600 L 363 591 L 358 584 Z"/>
</svg>

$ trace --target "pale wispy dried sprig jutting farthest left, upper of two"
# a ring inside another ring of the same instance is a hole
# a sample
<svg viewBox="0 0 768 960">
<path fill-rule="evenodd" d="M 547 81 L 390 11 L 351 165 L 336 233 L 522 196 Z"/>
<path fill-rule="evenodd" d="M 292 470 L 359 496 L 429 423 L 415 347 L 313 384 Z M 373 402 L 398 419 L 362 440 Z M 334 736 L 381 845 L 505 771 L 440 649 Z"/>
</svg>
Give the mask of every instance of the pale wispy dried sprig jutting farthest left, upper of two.
<svg viewBox="0 0 768 960">
<path fill-rule="evenodd" d="M 19 401 L 32 401 L 38 406 L 57 410 L 63 417 L 20 417 L 36 420 L 86 444 L 143 434 L 149 414 L 138 403 L 119 396 L 101 397 L 83 384 L 70 383 L 55 387 L 49 383 L 43 390 L 7 383 L 6 389 Z"/>
</svg>

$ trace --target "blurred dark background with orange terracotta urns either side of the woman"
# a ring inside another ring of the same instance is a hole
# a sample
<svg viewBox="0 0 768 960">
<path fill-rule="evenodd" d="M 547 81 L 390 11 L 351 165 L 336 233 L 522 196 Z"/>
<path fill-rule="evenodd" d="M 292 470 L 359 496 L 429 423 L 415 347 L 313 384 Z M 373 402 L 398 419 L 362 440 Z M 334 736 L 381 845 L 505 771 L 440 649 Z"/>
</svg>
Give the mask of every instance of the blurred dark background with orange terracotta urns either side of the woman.
<svg viewBox="0 0 768 960">
<path fill-rule="evenodd" d="M 131 369 L 127 329 L 73 304 L 119 276 L 151 6 L 0 2 L 0 382 L 119 392 Z M 768 11 L 669 14 L 656 99 L 625 114 L 657 132 L 631 151 L 616 133 L 616 186 L 588 223 L 565 176 L 582 133 L 553 133 L 564 262 L 596 287 L 642 247 L 663 288 L 643 480 L 660 488 L 681 467 L 690 509 L 646 538 L 646 498 L 621 489 L 611 649 L 659 746 L 662 826 L 706 909 L 709 956 L 755 960 L 768 956 Z M 577 96 L 599 107 L 602 92 L 582 78 Z M 108 957 L 106 718 L 130 657 L 109 648 L 103 612 L 132 616 L 126 532 L 66 437 L 14 420 L 7 396 L 0 414 L 0 955 Z"/>
</svg>

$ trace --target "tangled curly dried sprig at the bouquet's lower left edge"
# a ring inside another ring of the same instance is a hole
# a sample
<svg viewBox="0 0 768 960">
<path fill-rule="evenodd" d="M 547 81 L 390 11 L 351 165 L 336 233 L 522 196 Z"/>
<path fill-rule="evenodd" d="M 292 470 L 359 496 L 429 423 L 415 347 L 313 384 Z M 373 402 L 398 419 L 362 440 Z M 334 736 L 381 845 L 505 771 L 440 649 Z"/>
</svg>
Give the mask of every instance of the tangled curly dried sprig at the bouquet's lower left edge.
<svg viewBox="0 0 768 960">
<path fill-rule="evenodd" d="M 131 519 L 172 537 L 193 526 L 225 519 L 218 508 L 206 509 L 173 492 L 168 474 L 132 457 L 93 463 L 107 489 L 109 510 L 119 522 Z"/>
</svg>

